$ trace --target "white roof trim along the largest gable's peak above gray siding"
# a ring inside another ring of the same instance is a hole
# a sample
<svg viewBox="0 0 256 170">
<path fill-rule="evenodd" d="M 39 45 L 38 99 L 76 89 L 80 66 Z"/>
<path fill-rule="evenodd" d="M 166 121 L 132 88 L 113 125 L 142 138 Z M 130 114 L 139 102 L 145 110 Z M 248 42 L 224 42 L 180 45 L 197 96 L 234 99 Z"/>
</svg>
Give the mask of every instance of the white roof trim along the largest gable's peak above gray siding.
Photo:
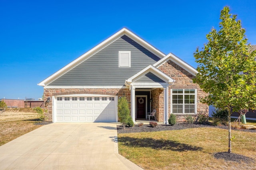
<svg viewBox="0 0 256 170">
<path fill-rule="evenodd" d="M 162 58 L 165 56 L 164 53 L 162 53 L 161 51 L 159 51 L 158 49 L 156 49 L 155 47 L 153 47 L 152 45 L 150 45 L 149 43 L 147 43 L 146 41 L 144 41 L 143 39 L 138 37 L 138 35 L 132 33 L 132 31 L 128 30 L 127 28 L 123 28 L 120 31 L 118 31 L 117 33 L 115 33 L 114 35 L 110 36 L 108 39 L 102 41 L 102 43 L 96 45 L 94 48 L 90 49 L 89 51 L 87 51 L 86 53 L 84 53 L 83 55 L 81 55 L 80 57 L 78 57 L 77 59 L 72 61 L 71 63 L 69 63 L 68 65 L 66 65 L 63 68 L 61 68 L 60 70 L 58 70 L 57 72 L 55 72 L 48 78 L 44 79 L 42 82 L 38 83 L 38 85 L 39 86 L 47 86 L 49 84 L 49 82 L 52 82 L 52 80 L 55 80 L 56 78 L 62 76 L 63 74 L 65 74 L 66 72 L 68 72 L 69 70 L 71 70 L 72 68 L 77 66 L 78 64 L 82 63 L 83 61 L 85 61 L 86 59 L 88 59 L 89 57 L 94 55 L 96 52 L 98 52 L 102 48 L 106 47 L 108 44 L 112 43 L 119 37 L 122 37 L 123 35 L 132 37 L 132 39 L 134 39 L 136 42 L 138 41 L 137 43 L 139 43 L 140 45 L 142 45 L 143 47 L 145 47 L 152 53 L 157 54 L 156 56 L 158 56 L 159 58 Z"/>
</svg>

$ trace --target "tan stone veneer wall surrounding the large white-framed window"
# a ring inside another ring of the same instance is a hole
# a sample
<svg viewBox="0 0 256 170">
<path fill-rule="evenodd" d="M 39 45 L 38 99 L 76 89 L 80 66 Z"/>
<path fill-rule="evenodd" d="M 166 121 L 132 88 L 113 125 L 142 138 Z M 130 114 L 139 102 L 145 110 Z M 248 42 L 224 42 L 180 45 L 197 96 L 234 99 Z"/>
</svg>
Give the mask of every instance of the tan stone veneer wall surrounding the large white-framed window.
<svg viewBox="0 0 256 170">
<path fill-rule="evenodd" d="M 173 86 L 169 86 L 169 94 L 168 94 L 168 113 L 172 112 L 170 110 L 170 92 L 171 89 L 197 89 L 197 113 L 206 113 L 208 114 L 209 107 L 207 104 L 202 104 L 200 102 L 200 98 L 206 97 L 208 94 L 203 92 L 202 89 L 200 89 L 198 84 L 193 83 L 192 78 L 194 76 L 175 64 L 172 61 L 167 61 L 166 63 L 162 64 L 158 67 L 159 70 L 176 80 L 173 84 Z M 193 115 L 193 117 L 196 117 L 196 115 Z M 185 117 L 184 115 L 177 115 L 177 121 L 178 122 L 184 122 Z"/>
</svg>

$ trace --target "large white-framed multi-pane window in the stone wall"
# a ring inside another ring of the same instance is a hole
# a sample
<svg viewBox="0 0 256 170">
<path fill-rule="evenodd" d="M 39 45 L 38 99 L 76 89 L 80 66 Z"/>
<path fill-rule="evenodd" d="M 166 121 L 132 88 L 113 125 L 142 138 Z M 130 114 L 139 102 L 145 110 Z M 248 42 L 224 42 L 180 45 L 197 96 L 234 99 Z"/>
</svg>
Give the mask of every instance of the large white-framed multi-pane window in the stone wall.
<svg viewBox="0 0 256 170">
<path fill-rule="evenodd" d="M 196 113 L 195 89 L 172 89 L 172 113 Z"/>
</svg>

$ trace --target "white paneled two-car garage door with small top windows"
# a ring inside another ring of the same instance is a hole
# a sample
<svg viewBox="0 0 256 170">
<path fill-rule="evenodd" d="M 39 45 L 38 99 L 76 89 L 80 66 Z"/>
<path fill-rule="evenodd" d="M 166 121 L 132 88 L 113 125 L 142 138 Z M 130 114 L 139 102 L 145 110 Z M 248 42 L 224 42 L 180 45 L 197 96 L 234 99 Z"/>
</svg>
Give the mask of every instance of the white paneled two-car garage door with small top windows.
<svg viewBox="0 0 256 170">
<path fill-rule="evenodd" d="M 55 101 L 55 122 L 116 122 L 115 96 L 57 96 Z"/>
</svg>

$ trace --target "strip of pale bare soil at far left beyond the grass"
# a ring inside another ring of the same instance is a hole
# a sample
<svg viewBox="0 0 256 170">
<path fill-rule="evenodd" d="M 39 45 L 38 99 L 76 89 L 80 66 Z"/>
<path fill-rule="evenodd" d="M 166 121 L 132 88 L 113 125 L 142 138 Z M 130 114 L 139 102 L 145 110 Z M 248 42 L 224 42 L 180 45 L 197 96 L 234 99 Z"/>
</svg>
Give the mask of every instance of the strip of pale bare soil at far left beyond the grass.
<svg viewBox="0 0 256 170">
<path fill-rule="evenodd" d="M 36 113 L 32 108 L 6 109 L 6 111 L 0 111 L 0 122 L 38 118 L 38 113 Z"/>
</svg>

